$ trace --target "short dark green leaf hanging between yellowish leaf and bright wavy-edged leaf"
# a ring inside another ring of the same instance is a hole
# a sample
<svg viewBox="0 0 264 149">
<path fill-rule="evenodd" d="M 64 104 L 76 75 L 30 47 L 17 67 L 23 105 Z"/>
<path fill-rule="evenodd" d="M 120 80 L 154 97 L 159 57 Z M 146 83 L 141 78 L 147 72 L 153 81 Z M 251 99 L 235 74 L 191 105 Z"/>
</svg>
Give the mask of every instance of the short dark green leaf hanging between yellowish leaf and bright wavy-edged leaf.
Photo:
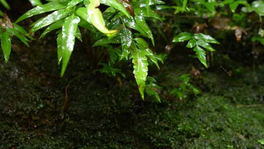
<svg viewBox="0 0 264 149">
<path fill-rule="evenodd" d="M 120 57 L 120 60 L 122 60 L 123 58 L 128 59 L 128 54 L 129 54 L 128 49 L 130 48 L 133 39 L 132 32 L 124 26 L 119 31 L 119 33 L 121 36 L 121 45 L 122 45 L 122 55 Z"/>
</svg>

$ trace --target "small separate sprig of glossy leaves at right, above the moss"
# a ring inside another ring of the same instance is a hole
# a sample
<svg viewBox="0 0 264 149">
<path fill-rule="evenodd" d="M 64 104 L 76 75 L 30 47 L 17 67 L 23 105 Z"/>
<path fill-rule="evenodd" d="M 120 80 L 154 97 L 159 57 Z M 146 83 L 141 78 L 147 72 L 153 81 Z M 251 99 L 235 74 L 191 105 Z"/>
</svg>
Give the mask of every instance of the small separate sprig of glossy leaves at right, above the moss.
<svg viewBox="0 0 264 149">
<path fill-rule="evenodd" d="M 199 61 L 206 68 L 208 67 L 206 63 L 206 51 L 202 48 L 205 48 L 206 50 L 209 51 L 215 51 L 215 49 L 211 47 L 210 43 L 220 44 L 217 40 L 215 40 L 211 36 L 204 35 L 202 33 L 196 33 L 193 35 L 189 32 L 181 32 L 173 39 L 173 42 L 175 43 L 184 42 L 184 41 L 189 41 L 186 47 L 193 48 L 193 50 L 196 52 Z"/>
</svg>

